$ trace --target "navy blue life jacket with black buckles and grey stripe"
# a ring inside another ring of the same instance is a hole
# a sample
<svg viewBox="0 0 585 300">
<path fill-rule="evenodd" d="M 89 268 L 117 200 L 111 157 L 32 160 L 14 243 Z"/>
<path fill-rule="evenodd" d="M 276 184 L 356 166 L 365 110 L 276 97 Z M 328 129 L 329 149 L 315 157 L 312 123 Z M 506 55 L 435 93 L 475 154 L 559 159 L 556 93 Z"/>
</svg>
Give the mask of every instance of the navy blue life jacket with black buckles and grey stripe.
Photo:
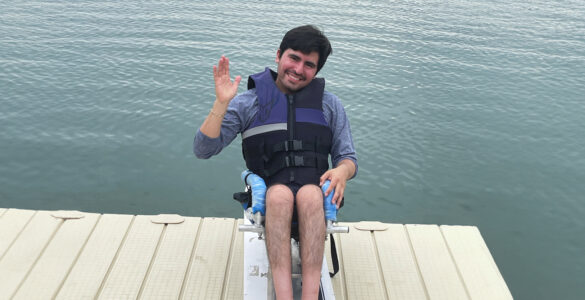
<svg viewBox="0 0 585 300">
<path fill-rule="evenodd" d="M 258 114 L 242 133 L 246 167 L 267 186 L 282 183 L 319 184 L 329 169 L 333 132 L 323 115 L 325 80 L 315 78 L 300 91 L 285 95 L 276 86 L 277 73 L 266 68 L 251 75 Z"/>
</svg>

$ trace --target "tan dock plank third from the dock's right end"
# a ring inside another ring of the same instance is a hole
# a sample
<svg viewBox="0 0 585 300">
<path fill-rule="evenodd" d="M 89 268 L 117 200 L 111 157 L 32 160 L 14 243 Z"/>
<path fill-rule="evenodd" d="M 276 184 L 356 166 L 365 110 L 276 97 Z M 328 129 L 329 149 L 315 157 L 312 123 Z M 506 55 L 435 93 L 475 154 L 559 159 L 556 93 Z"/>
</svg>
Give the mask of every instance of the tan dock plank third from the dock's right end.
<svg viewBox="0 0 585 300">
<path fill-rule="evenodd" d="M 389 298 L 427 299 L 404 226 L 391 224 L 384 231 L 374 231 L 374 237 Z"/>
</svg>

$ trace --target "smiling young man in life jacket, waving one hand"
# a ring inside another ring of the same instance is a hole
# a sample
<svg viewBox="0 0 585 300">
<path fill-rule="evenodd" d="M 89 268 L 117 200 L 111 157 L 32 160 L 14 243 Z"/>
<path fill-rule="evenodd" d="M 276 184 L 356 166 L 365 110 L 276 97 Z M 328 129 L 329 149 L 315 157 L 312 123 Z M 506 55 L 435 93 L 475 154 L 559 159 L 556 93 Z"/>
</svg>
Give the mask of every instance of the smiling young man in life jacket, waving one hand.
<svg viewBox="0 0 585 300">
<path fill-rule="evenodd" d="M 238 133 L 246 166 L 260 175 L 266 192 L 266 246 L 279 300 L 292 299 L 290 232 L 299 223 L 303 299 L 317 299 L 324 251 L 323 192 L 339 207 L 347 180 L 357 172 L 349 122 L 339 99 L 315 78 L 331 53 L 329 40 L 306 25 L 286 33 L 276 52 L 277 72 L 250 76 L 248 91 L 236 96 L 241 77 L 229 74 L 222 56 L 213 66 L 216 99 L 199 128 L 194 153 L 218 154 Z M 331 155 L 333 168 L 329 169 Z"/>
</svg>

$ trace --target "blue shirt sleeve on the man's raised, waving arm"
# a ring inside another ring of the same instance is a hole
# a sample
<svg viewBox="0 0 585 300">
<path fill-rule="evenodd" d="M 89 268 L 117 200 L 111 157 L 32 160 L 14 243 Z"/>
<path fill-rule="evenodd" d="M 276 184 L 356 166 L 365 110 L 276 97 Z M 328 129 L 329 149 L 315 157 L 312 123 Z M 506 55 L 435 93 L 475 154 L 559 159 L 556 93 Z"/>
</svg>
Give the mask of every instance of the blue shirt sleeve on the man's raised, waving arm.
<svg viewBox="0 0 585 300">
<path fill-rule="evenodd" d="M 245 92 L 236 96 L 230 102 L 228 109 L 221 123 L 219 137 L 210 138 L 197 130 L 193 140 L 193 153 L 197 158 L 207 159 L 217 155 L 227 147 L 236 136 L 242 132 L 249 122 L 250 109 L 249 101 L 255 100 L 255 94 Z M 253 103 L 253 102 L 252 102 Z"/>
</svg>

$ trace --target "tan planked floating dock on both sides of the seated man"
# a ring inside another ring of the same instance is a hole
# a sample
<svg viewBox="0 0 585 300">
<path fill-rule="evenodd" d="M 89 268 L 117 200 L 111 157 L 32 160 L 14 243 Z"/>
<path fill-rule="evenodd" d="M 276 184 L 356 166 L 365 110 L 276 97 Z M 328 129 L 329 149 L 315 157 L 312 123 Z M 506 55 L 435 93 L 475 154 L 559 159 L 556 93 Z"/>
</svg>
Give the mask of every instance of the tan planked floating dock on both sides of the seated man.
<svg viewBox="0 0 585 300">
<path fill-rule="evenodd" d="M 242 222 L 0 208 L 0 299 L 242 299 Z M 340 225 L 336 299 L 512 299 L 477 227 Z"/>
</svg>

